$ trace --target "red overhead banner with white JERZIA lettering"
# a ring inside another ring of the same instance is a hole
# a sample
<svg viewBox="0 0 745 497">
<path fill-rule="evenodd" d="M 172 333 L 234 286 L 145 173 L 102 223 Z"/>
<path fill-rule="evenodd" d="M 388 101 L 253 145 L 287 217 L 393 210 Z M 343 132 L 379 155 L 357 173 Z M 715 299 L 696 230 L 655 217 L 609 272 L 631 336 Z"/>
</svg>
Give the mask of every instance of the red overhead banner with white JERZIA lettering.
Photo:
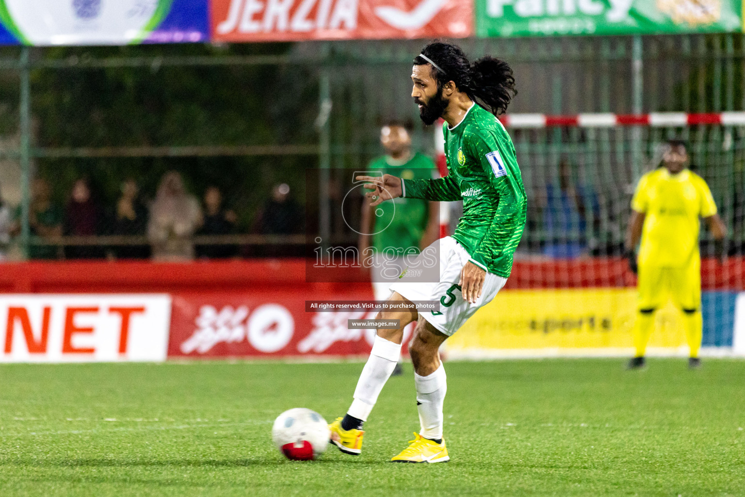
<svg viewBox="0 0 745 497">
<path fill-rule="evenodd" d="M 463 38 L 473 4 L 461 0 L 210 0 L 212 39 Z"/>
</svg>

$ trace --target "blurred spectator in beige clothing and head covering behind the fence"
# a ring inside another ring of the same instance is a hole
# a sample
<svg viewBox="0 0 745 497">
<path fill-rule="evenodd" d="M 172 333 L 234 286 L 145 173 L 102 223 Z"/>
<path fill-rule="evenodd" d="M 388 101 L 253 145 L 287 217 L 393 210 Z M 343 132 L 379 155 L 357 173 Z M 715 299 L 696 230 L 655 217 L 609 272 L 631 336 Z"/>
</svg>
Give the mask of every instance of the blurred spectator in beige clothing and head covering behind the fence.
<svg viewBox="0 0 745 497">
<path fill-rule="evenodd" d="M 199 201 L 183 186 L 181 175 L 168 171 L 158 186 L 150 207 L 148 238 L 153 259 L 159 261 L 188 261 L 194 259 L 191 235 L 202 224 Z"/>
</svg>

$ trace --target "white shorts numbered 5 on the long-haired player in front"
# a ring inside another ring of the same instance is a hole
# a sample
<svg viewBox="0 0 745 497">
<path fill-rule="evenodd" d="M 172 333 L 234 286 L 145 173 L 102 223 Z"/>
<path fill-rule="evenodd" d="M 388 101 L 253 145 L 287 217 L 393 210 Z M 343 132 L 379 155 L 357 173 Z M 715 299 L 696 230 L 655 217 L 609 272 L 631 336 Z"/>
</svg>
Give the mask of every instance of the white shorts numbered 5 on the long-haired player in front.
<svg viewBox="0 0 745 497">
<path fill-rule="evenodd" d="M 390 285 L 390 290 L 398 292 L 408 300 L 440 300 L 439 312 L 422 311 L 419 316 L 449 337 L 481 306 L 492 301 L 507 282 L 507 278 L 486 273 L 481 297 L 478 297 L 475 304 L 468 303 L 460 294 L 458 282 L 460 271 L 471 256 L 451 236 L 440 238 L 434 243 L 440 244 L 440 282 L 406 282 L 404 276 L 402 281 Z"/>
</svg>

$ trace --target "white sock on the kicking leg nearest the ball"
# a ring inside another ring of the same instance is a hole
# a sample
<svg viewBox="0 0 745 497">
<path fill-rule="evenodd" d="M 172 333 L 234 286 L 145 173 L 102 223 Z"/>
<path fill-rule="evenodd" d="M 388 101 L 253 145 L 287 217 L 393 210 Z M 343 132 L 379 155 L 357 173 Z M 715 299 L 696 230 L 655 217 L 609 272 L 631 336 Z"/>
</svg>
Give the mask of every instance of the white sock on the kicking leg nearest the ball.
<svg viewBox="0 0 745 497">
<path fill-rule="evenodd" d="M 399 357 L 401 357 L 401 344 L 394 344 L 385 338 L 375 336 L 370 358 L 362 368 L 362 374 L 355 388 L 355 399 L 346 414 L 367 421 Z"/>
</svg>

